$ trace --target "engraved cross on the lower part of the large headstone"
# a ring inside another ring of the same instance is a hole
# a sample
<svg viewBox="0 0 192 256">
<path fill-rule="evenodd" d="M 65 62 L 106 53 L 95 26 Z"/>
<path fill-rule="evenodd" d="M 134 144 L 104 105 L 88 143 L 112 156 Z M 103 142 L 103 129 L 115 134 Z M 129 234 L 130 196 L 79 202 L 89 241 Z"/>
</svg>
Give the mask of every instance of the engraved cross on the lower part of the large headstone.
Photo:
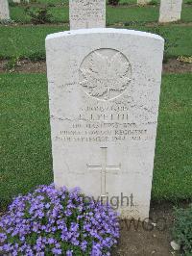
<svg viewBox="0 0 192 256">
<path fill-rule="evenodd" d="M 121 168 L 121 164 L 118 166 L 108 166 L 107 165 L 107 150 L 108 147 L 101 147 L 102 150 L 102 164 L 98 166 L 86 165 L 88 170 L 100 170 L 101 171 L 101 197 L 107 197 L 106 192 L 106 174 L 118 174 Z"/>
</svg>

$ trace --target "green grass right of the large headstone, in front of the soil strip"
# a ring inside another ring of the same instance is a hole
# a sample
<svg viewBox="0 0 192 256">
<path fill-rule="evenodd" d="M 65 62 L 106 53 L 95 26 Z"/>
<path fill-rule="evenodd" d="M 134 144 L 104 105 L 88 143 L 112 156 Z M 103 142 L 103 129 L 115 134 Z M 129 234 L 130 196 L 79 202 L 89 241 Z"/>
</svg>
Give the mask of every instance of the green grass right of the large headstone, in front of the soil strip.
<svg viewBox="0 0 192 256">
<path fill-rule="evenodd" d="M 192 74 L 165 75 L 161 88 L 153 197 L 192 196 Z"/>
</svg>

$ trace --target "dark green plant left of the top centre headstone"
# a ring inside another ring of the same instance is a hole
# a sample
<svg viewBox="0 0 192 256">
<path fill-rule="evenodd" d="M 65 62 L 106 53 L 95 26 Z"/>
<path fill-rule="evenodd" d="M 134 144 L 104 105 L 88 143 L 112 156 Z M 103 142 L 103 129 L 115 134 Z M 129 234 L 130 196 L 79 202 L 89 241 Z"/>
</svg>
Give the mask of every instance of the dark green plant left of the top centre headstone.
<svg viewBox="0 0 192 256">
<path fill-rule="evenodd" d="M 49 12 L 49 10 L 46 7 L 42 7 L 42 8 L 27 7 L 25 9 L 25 13 L 27 13 L 31 17 L 31 21 L 34 24 L 51 23 L 53 18 L 53 15 Z"/>
</svg>

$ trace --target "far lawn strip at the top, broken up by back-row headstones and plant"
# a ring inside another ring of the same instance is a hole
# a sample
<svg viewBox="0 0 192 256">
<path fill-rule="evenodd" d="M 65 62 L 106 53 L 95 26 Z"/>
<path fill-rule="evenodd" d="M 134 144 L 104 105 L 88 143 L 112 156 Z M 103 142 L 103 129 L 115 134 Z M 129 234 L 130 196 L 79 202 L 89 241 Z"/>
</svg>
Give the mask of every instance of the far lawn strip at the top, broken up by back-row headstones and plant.
<svg viewBox="0 0 192 256">
<path fill-rule="evenodd" d="M 24 12 L 25 7 L 15 6 L 11 7 L 11 18 L 16 22 L 29 23 L 30 17 Z M 68 22 L 69 14 L 68 7 L 51 7 L 50 13 L 53 15 L 53 22 Z M 107 7 L 107 23 L 125 23 L 131 21 L 145 21 L 145 22 L 157 22 L 159 13 L 159 6 L 147 6 L 147 7 L 123 7 L 116 8 Z M 192 21 L 192 6 L 183 6 L 181 13 L 181 21 Z"/>
</svg>

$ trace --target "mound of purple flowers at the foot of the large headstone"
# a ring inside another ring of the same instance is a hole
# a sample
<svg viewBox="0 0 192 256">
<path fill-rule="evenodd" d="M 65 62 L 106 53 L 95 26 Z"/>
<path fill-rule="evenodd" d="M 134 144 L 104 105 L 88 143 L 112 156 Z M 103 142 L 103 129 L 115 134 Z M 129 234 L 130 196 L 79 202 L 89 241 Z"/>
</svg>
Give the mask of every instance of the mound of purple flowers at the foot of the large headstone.
<svg viewBox="0 0 192 256">
<path fill-rule="evenodd" d="M 0 253 L 12 256 L 110 255 L 118 237 L 109 205 L 54 185 L 14 198 L 0 219 Z"/>
</svg>

